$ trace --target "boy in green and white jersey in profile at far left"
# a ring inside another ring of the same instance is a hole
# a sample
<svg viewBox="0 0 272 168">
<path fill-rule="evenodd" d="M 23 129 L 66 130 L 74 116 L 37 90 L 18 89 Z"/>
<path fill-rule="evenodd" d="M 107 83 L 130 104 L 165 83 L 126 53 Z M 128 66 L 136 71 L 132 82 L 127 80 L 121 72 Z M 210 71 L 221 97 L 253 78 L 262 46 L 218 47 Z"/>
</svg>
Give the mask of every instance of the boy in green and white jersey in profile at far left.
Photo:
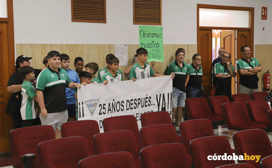
<svg viewBox="0 0 272 168">
<path fill-rule="evenodd" d="M 37 101 L 37 95 L 32 83 L 35 79 L 34 68 L 24 66 L 20 68 L 19 73 L 24 78 L 21 89 L 22 104 L 20 109 L 22 127 L 35 126 L 38 125 L 38 123 L 35 112 L 35 101 Z"/>
</svg>

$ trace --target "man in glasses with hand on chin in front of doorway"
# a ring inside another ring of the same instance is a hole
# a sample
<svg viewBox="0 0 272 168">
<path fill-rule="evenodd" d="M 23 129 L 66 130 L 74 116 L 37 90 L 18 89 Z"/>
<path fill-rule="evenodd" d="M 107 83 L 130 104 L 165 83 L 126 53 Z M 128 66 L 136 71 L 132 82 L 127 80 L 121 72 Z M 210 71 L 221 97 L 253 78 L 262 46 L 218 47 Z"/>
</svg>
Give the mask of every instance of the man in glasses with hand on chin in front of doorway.
<svg viewBox="0 0 272 168">
<path fill-rule="evenodd" d="M 236 77 L 233 65 L 230 63 L 230 53 L 222 54 L 222 61 L 216 63 L 213 68 L 215 83 L 215 96 L 231 96 L 231 77 Z"/>
</svg>

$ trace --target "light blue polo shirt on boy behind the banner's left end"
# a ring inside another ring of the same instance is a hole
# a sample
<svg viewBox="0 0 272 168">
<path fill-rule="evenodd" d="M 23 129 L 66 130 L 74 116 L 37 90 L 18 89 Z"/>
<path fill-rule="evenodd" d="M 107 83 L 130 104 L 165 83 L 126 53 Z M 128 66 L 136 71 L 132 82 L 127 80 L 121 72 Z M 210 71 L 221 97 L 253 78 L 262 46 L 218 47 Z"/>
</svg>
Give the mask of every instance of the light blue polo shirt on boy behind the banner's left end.
<svg viewBox="0 0 272 168">
<path fill-rule="evenodd" d="M 80 83 L 79 77 L 75 70 L 68 69 L 66 70 L 66 72 L 71 82 Z M 75 89 L 69 89 L 68 87 L 66 87 L 65 92 L 66 92 L 66 104 L 75 104 L 76 103 Z"/>
</svg>

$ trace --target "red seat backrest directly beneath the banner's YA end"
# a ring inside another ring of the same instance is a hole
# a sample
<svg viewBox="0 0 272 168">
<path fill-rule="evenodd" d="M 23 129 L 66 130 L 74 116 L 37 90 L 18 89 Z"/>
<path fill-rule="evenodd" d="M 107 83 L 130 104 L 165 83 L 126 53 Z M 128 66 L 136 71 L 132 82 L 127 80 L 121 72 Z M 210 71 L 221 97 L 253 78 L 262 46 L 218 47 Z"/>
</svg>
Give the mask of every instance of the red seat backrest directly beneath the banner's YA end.
<svg viewBox="0 0 272 168">
<path fill-rule="evenodd" d="M 158 124 L 172 124 L 170 114 L 167 111 L 156 111 L 141 115 L 142 127 Z"/>
</svg>

